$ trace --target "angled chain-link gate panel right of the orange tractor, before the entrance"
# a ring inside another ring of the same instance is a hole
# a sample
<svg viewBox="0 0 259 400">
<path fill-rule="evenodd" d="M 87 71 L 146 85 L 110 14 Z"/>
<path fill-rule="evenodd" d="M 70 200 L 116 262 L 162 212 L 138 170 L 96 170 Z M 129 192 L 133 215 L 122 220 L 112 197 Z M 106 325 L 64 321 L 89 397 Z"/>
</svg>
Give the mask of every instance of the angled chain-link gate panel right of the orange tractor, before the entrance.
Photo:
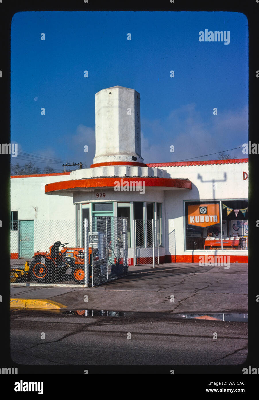
<svg viewBox="0 0 259 400">
<path fill-rule="evenodd" d="M 127 218 L 92 216 L 91 222 L 92 286 L 98 286 L 128 273 Z"/>
</svg>

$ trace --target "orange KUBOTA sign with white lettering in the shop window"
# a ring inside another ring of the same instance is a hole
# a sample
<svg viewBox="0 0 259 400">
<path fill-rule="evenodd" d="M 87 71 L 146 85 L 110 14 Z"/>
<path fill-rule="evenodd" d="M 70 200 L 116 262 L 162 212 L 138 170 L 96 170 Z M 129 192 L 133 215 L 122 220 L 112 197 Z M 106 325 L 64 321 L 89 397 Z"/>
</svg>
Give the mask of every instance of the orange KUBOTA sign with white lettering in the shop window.
<svg viewBox="0 0 259 400">
<path fill-rule="evenodd" d="M 215 225 L 219 223 L 219 204 L 195 204 L 188 206 L 188 224 L 195 226 Z"/>
</svg>

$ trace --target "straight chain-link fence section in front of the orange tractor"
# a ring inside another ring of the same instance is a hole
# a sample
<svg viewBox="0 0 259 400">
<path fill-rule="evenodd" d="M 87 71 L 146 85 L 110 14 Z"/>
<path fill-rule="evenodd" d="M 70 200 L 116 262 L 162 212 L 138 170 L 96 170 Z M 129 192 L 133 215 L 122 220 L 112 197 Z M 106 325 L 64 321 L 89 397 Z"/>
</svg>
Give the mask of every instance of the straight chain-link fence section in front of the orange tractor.
<svg viewBox="0 0 259 400">
<path fill-rule="evenodd" d="M 11 231 L 11 283 L 85 284 L 85 251 L 76 242 L 74 220 L 18 221 Z"/>
</svg>

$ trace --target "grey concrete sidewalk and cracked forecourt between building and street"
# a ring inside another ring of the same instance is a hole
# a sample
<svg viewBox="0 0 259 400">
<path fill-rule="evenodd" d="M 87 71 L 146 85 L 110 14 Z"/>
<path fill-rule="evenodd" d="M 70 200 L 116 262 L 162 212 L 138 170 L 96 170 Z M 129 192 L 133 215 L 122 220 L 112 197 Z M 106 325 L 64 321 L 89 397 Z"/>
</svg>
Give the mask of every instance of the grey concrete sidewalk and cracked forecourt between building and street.
<svg viewBox="0 0 259 400">
<path fill-rule="evenodd" d="M 54 301 L 70 310 L 244 313 L 247 267 L 239 263 L 229 269 L 198 263 L 130 266 L 125 278 L 94 288 L 11 285 L 11 298 Z"/>
</svg>

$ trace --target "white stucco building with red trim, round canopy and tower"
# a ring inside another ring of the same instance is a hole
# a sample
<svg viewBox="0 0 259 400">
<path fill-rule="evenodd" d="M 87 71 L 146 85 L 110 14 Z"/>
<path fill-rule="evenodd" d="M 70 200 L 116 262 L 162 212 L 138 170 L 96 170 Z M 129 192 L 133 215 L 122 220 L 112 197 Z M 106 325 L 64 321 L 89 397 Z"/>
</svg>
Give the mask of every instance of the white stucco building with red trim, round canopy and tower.
<svg viewBox="0 0 259 400">
<path fill-rule="evenodd" d="M 56 240 L 82 246 L 83 218 L 99 215 L 127 217 L 129 265 L 134 243 L 137 263 L 152 254 L 145 233 L 134 235 L 134 220 L 152 219 L 158 220 L 160 263 L 197 262 L 204 254 L 247 262 L 247 158 L 144 164 L 140 95 L 133 89 L 98 92 L 95 118 L 91 168 L 11 177 L 12 258 L 45 251 Z M 23 242 L 30 242 L 30 254 Z"/>
</svg>

